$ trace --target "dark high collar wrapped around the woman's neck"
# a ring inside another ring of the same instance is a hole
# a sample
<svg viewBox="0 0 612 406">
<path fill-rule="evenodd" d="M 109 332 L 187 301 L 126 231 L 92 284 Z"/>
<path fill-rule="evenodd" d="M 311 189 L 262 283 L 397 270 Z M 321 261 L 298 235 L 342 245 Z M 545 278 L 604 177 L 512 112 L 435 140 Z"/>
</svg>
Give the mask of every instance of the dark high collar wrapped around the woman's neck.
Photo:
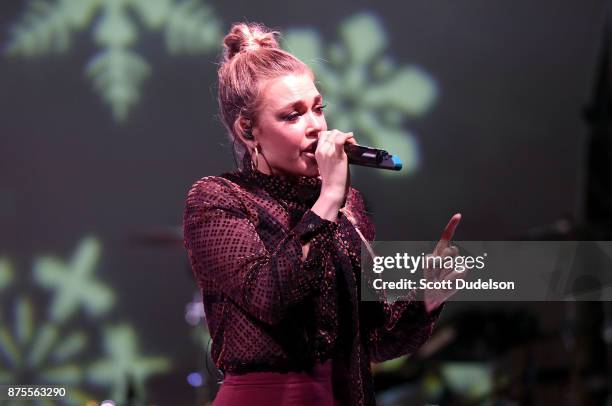
<svg viewBox="0 0 612 406">
<path fill-rule="evenodd" d="M 273 198 L 286 202 L 312 205 L 321 194 L 320 178 L 266 175 L 251 168 L 248 154 L 245 154 L 242 169 L 238 171 L 238 175 L 247 183 L 261 187 Z"/>
</svg>

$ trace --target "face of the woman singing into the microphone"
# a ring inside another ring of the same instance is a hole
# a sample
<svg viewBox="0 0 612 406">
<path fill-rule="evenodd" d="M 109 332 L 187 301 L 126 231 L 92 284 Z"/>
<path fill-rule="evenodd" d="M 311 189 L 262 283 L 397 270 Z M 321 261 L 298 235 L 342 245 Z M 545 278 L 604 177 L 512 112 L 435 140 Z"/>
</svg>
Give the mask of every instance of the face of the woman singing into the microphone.
<svg viewBox="0 0 612 406">
<path fill-rule="evenodd" d="M 258 169 L 267 174 L 318 176 L 314 151 L 327 123 L 323 99 L 310 74 L 267 80 L 260 97 L 261 108 L 252 129 L 259 155 L 263 155 Z"/>
</svg>

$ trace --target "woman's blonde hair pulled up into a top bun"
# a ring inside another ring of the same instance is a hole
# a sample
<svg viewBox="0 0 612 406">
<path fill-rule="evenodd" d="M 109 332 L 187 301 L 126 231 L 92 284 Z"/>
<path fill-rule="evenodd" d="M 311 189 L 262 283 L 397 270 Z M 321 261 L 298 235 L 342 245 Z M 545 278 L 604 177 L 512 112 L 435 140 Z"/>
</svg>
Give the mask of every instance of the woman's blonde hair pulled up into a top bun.
<svg viewBox="0 0 612 406">
<path fill-rule="evenodd" d="M 239 157 L 248 153 L 243 139 L 249 139 L 240 119 L 248 120 L 251 127 L 255 125 L 261 107 L 261 83 L 287 74 L 308 73 L 314 78 L 304 62 L 279 47 L 278 35 L 280 32 L 263 24 L 235 23 L 223 38 L 218 70 L 219 113 Z"/>
</svg>

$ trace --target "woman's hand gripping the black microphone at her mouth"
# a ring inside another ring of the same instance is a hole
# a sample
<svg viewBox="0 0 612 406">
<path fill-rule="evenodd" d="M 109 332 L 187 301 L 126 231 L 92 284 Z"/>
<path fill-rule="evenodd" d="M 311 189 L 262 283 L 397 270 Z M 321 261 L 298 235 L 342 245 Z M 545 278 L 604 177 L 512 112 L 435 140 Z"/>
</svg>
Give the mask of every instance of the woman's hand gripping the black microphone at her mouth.
<svg viewBox="0 0 612 406">
<path fill-rule="evenodd" d="M 321 176 L 321 197 L 328 199 L 339 210 L 346 200 L 350 186 L 348 157 L 344 144 L 357 144 L 353 133 L 339 130 L 319 132 L 315 159 Z"/>
</svg>

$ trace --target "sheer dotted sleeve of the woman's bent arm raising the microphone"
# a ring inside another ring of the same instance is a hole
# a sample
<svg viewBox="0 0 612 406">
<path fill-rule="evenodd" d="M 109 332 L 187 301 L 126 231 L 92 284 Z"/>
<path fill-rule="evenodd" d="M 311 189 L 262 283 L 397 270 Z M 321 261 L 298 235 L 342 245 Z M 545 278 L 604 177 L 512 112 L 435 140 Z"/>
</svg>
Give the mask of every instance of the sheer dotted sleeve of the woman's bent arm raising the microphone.
<svg viewBox="0 0 612 406">
<path fill-rule="evenodd" d="M 206 289 L 212 283 L 253 317 L 275 324 L 318 285 L 326 246 L 337 226 L 308 210 L 268 250 L 226 181 L 208 177 L 189 191 L 183 227 L 200 286 Z"/>
</svg>

